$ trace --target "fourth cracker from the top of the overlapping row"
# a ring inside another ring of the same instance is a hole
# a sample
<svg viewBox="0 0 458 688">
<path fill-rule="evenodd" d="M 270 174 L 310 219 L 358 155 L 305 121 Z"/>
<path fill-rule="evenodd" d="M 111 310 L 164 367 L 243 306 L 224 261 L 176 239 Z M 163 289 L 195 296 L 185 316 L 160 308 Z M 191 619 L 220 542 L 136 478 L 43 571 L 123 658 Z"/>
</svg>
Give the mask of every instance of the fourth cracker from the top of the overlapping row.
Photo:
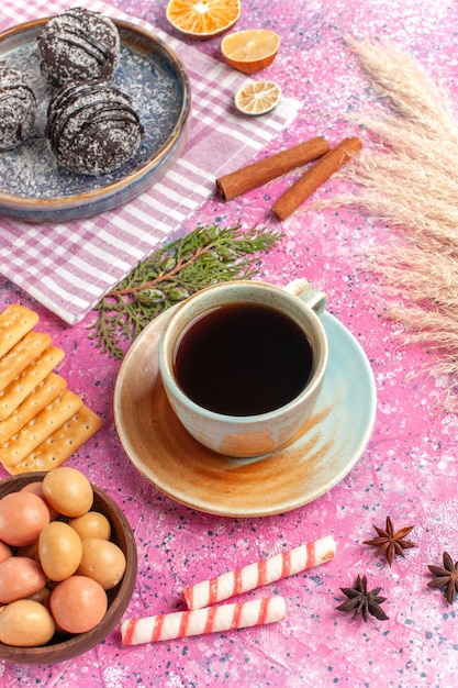
<svg viewBox="0 0 458 688">
<path fill-rule="evenodd" d="M 63 393 L 67 381 L 49 373 L 4 421 L 0 421 L 0 444 L 8 442 L 56 397 Z"/>
</svg>

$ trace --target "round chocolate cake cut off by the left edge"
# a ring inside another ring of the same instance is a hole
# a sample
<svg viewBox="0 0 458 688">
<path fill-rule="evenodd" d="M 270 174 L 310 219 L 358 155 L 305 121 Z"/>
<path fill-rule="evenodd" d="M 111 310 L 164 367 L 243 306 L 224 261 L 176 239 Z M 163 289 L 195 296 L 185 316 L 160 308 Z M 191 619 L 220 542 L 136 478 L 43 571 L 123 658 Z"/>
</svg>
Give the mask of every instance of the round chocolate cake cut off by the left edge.
<svg viewBox="0 0 458 688">
<path fill-rule="evenodd" d="M 21 144 L 32 133 L 36 101 L 25 76 L 0 65 L 0 151 Z"/>
</svg>

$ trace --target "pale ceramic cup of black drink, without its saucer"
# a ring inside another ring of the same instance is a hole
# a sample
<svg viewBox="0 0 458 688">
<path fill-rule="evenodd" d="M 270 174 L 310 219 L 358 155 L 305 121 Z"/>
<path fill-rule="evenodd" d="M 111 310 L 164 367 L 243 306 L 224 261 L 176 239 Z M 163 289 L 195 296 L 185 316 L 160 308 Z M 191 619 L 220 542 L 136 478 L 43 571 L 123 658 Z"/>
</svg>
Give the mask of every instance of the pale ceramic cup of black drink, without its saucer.
<svg viewBox="0 0 458 688">
<path fill-rule="evenodd" d="M 323 386 L 326 295 L 237 280 L 178 306 L 159 342 L 168 401 L 188 432 L 226 456 L 269 454 L 308 421 Z"/>
</svg>

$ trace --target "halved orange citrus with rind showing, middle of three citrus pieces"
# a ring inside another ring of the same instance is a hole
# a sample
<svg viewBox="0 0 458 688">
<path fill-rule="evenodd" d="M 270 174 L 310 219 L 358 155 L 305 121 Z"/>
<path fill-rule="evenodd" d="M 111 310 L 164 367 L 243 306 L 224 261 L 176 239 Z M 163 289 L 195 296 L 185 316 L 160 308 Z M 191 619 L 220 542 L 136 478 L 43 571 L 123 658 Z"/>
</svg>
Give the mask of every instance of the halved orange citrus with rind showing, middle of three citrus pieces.
<svg viewBox="0 0 458 688">
<path fill-rule="evenodd" d="M 280 47 L 280 36 L 269 29 L 249 29 L 230 33 L 221 42 L 226 62 L 245 74 L 253 74 L 272 64 Z"/>
</svg>

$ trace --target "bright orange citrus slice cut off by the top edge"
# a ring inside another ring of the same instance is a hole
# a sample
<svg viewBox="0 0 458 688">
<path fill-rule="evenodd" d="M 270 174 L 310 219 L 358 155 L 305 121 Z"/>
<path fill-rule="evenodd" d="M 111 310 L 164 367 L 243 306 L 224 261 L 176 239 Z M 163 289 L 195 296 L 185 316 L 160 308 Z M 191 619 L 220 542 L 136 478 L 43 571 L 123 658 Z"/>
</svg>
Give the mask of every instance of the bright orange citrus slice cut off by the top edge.
<svg viewBox="0 0 458 688">
<path fill-rule="evenodd" d="M 211 38 L 232 29 L 241 16 L 241 0 L 169 0 L 170 24 L 194 38 Z"/>
</svg>

